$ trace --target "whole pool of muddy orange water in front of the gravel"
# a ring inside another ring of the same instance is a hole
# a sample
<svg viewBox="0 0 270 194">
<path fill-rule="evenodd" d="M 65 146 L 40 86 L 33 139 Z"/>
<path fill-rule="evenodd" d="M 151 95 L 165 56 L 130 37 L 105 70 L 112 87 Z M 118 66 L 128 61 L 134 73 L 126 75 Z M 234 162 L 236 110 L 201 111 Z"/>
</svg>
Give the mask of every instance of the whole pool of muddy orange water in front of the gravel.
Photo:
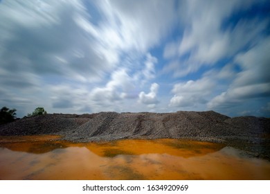
<svg viewBox="0 0 270 194">
<path fill-rule="evenodd" d="M 270 179 L 270 162 L 201 141 L 0 136 L 0 179 Z"/>
</svg>

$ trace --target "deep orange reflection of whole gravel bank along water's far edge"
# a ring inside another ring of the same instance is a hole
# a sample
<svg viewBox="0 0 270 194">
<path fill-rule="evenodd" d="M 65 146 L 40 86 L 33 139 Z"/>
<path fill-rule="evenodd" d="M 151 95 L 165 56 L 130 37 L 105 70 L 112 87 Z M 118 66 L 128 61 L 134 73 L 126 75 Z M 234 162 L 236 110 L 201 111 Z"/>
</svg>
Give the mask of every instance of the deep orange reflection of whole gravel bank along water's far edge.
<svg viewBox="0 0 270 194">
<path fill-rule="evenodd" d="M 0 146 L 19 152 L 43 154 L 60 153 L 68 147 L 85 147 L 100 157 L 116 157 L 117 155 L 168 154 L 180 157 L 195 157 L 217 152 L 224 148 L 220 143 L 209 143 L 179 139 L 126 139 L 105 143 L 70 143 L 67 141 L 6 141 Z"/>
</svg>

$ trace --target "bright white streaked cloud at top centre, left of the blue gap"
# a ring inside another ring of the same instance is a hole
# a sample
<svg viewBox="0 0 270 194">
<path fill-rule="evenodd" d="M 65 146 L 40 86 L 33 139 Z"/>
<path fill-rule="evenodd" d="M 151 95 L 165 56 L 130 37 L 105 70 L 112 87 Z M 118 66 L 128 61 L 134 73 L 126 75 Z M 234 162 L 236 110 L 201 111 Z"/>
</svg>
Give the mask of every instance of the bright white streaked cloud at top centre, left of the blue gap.
<svg viewBox="0 0 270 194">
<path fill-rule="evenodd" d="M 102 24 L 102 39 L 124 51 L 147 52 L 175 19 L 174 1 L 103 1 L 98 6 L 109 21 L 109 26 Z"/>
</svg>

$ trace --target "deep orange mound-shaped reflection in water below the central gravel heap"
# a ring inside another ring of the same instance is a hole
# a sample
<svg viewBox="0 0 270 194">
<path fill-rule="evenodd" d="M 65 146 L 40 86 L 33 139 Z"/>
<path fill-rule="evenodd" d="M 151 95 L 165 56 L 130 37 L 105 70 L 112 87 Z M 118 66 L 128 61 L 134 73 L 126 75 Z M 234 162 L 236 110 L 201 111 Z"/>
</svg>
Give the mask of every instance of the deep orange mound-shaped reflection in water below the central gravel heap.
<svg viewBox="0 0 270 194">
<path fill-rule="evenodd" d="M 89 143 L 87 148 L 101 157 L 116 155 L 167 154 L 179 157 L 195 157 L 217 152 L 224 148 L 221 143 L 209 143 L 180 139 L 126 139 L 117 143 Z M 102 148 L 102 149 L 100 149 Z"/>
</svg>

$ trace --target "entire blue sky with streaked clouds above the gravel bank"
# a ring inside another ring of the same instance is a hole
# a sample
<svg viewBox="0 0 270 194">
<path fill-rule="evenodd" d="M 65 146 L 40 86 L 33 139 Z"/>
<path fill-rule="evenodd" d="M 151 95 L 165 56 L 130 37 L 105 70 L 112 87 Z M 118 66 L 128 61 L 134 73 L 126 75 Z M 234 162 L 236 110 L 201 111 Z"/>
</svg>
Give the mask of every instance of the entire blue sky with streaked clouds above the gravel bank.
<svg viewBox="0 0 270 194">
<path fill-rule="evenodd" d="M 0 1 L 0 106 L 270 117 L 270 2 Z"/>
</svg>

